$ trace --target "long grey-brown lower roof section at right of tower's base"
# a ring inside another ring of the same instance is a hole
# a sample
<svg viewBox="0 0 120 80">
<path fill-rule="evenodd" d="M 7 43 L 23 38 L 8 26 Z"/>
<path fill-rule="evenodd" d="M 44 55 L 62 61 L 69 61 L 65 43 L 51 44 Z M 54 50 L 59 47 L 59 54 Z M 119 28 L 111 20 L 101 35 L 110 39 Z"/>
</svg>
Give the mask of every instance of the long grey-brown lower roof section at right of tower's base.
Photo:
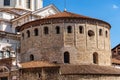
<svg viewBox="0 0 120 80">
<path fill-rule="evenodd" d="M 79 74 L 101 74 L 101 75 L 118 75 L 120 69 L 110 66 L 99 65 L 63 65 L 60 68 L 63 75 L 79 75 Z"/>
</svg>

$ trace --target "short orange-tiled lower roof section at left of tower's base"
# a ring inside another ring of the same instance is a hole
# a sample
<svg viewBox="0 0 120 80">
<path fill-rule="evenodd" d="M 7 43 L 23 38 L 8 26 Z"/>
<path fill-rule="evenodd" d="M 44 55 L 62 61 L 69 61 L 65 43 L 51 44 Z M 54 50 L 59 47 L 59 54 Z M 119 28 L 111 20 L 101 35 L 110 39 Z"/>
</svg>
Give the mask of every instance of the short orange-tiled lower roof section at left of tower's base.
<svg viewBox="0 0 120 80">
<path fill-rule="evenodd" d="M 47 61 L 30 61 L 21 63 L 21 68 L 42 68 L 42 67 L 57 67 L 56 64 Z"/>
</svg>

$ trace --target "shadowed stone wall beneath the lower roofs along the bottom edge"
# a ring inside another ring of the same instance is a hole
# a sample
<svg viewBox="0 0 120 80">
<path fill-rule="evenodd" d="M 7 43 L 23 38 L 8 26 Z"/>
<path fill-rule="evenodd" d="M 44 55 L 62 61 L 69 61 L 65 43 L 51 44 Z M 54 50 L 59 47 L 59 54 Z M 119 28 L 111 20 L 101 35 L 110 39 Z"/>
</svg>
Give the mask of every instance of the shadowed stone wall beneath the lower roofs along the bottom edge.
<svg viewBox="0 0 120 80">
<path fill-rule="evenodd" d="M 58 68 L 26 69 L 21 71 L 19 80 L 120 80 L 119 75 L 64 75 Z"/>
</svg>

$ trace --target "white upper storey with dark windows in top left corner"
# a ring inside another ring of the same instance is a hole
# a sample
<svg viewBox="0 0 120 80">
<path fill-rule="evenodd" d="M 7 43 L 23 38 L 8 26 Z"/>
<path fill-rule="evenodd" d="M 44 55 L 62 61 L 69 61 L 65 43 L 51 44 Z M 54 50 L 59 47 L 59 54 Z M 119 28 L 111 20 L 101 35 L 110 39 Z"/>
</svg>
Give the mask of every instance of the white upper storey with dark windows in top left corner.
<svg viewBox="0 0 120 80">
<path fill-rule="evenodd" d="M 35 11 L 43 7 L 42 0 L 1 0 L 0 8 L 19 8 Z"/>
</svg>

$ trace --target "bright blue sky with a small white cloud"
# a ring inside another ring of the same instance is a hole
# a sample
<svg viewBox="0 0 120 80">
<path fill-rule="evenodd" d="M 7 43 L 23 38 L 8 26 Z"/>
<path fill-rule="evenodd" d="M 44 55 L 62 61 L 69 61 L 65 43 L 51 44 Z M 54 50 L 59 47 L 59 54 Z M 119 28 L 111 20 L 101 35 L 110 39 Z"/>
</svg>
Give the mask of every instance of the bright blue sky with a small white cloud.
<svg viewBox="0 0 120 80">
<path fill-rule="evenodd" d="M 43 0 L 63 11 L 65 0 Z M 66 0 L 67 11 L 104 20 L 111 24 L 111 47 L 120 43 L 120 0 Z"/>
</svg>

